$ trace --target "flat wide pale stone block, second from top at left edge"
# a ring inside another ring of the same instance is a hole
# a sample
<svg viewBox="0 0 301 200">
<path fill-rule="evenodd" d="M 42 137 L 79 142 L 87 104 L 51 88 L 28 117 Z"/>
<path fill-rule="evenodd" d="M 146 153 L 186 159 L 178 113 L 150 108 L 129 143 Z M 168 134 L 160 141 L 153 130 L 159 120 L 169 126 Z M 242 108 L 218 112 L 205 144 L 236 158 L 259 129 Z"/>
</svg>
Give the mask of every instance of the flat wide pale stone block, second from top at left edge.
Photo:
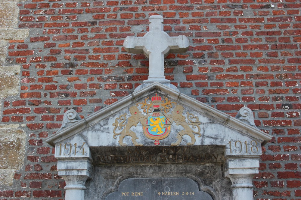
<svg viewBox="0 0 301 200">
<path fill-rule="evenodd" d="M 0 40 L 24 40 L 29 37 L 29 29 L 0 28 Z"/>
</svg>

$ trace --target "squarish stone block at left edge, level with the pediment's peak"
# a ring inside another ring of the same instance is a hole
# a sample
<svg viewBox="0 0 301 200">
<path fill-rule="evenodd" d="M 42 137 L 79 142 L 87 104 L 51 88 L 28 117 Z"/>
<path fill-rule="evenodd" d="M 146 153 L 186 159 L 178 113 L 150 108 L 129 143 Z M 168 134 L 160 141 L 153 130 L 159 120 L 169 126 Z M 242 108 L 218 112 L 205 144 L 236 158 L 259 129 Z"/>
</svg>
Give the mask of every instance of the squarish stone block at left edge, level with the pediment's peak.
<svg viewBox="0 0 301 200">
<path fill-rule="evenodd" d="M 20 66 L 0 67 L 0 98 L 16 95 L 19 91 Z"/>
</svg>

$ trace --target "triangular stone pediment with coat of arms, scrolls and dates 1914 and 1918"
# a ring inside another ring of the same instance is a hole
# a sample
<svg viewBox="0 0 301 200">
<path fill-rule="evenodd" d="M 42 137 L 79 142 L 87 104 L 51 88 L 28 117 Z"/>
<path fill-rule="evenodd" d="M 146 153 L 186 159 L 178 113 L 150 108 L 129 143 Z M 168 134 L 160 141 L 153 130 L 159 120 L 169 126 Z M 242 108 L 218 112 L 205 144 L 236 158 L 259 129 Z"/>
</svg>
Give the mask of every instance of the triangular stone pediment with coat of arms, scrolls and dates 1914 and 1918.
<svg viewBox="0 0 301 200">
<path fill-rule="evenodd" d="M 65 113 L 62 128 L 46 142 L 61 147 L 85 143 L 90 149 L 115 150 L 138 146 L 226 146 L 226 154 L 261 154 L 261 143 L 270 139 L 254 125 L 253 113 L 245 107 L 234 118 L 153 83 L 82 120 L 74 112 Z"/>
</svg>

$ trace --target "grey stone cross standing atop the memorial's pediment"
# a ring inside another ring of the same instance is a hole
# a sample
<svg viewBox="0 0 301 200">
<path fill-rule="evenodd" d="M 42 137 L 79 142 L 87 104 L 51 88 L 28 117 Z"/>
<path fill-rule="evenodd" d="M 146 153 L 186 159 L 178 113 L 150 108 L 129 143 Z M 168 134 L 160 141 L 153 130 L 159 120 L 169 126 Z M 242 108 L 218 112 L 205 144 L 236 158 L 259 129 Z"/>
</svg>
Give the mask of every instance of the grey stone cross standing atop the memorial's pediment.
<svg viewBox="0 0 301 200">
<path fill-rule="evenodd" d="M 149 76 L 143 81 L 144 86 L 153 82 L 169 86 L 170 80 L 165 79 L 164 76 L 164 58 L 169 53 L 185 53 L 189 47 L 189 40 L 185 35 L 169 37 L 163 31 L 163 17 L 160 15 L 151 16 L 149 21 L 149 32 L 143 37 L 126 37 L 123 46 L 129 53 L 143 53 L 150 59 Z"/>
</svg>

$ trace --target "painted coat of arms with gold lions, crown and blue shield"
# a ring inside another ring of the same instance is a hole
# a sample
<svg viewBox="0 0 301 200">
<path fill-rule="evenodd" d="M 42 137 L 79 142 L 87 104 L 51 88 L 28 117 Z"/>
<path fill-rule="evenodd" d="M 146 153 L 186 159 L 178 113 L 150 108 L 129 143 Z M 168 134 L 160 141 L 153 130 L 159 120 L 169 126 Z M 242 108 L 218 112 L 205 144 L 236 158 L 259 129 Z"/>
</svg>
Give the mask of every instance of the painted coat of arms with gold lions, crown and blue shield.
<svg viewBox="0 0 301 200">
<path fill-rule="evenodd" d="M 142 110 L 142 112 L 140 111 Z M 136 103 L 129 108 L 129 114 L 122 114 L 115 119 L 113 123 L 113 138 L 116 139 L 119 135 L 119 145 L 126 146 L 123 143 L 125 136 L 131 136 L 132 142 L 135 146 L 142 146 L 136 139 L 137 134 L 131 130 L 133 126 L 142 125 L 142 131 L 145 137 L 154 140 L 155 145 L 160 144 L 160 140 L 163 140 L 169 136 L 171 128 L 174 125 L 182 127 L 177 130 L 177 141 L 171 143 L 172 146 L 179 145 L 182 142 L 182 136 L 188 135 L 191 137 L 191 142 L 187 145 L 193 145 L 196 141 L 195 135 L 198 137 L 200 134 L 199 118 L 194 114 L 187 112 L 187 117 L 183 115 L 184 107 L 169 100 L 167 97 L 161 97 L 157 93 L 149 98 L 146 97 L 144 102 Z M 187 118 L 187 121 L 186 121 Z"/>
</svg>

